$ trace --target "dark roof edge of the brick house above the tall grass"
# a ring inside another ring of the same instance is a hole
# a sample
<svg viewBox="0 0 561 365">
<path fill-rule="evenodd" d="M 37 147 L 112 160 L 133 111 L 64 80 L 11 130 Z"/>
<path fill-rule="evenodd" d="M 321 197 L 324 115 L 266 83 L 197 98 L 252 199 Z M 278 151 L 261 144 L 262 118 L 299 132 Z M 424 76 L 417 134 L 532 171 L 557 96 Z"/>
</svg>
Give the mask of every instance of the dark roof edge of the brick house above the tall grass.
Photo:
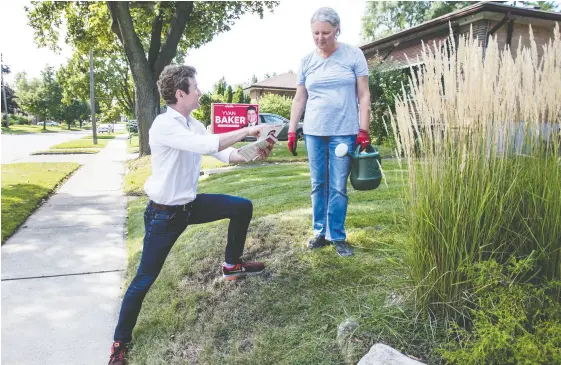
<svg viewBox="0 0 561 365">
<path fill-rule="evenodd" d="M 396 42 L 399 42 L 403 38 L 409 38 L 411 36 L 419 35 L 423 32 L 426 32 L 427 30 L 430 31 L 431 29 L 437 28 L 442 25 L 447 26 L 448 23 L 454 23 L 457 20 L 484 11 L 500 13 L 505 15 L 509 14 L 510 16 L 537 18 L 537 19 L 561 22 L 560 13 L 541 11 L 541 10 L 535 10 L 529 8 L 520 8 L 520 7 L 498 4 L 493 2 L 479 2 L 479 3 L 475 3 L 474 5 L 470 5 L 466 8 L 429 20 L 415 27 L 408 28 L 400 32 L 394 33 L 388 37 L 380 38 L 373 42 L 364 44 L 360 46 L 360 49 L 362 49 L 364 53 L 370 53 L 375 49 L 380 49 L 395 44 Z"/>
</svg>

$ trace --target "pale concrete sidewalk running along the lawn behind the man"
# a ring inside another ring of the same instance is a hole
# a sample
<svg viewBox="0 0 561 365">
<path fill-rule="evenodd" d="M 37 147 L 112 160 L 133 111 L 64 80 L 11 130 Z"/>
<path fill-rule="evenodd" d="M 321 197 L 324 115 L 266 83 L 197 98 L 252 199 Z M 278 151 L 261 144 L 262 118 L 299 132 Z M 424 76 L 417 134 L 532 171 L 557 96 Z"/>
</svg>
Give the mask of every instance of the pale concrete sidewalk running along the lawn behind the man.
<svg viewBox="0 0 561 365">
<path fill-rule="evenodd" d="M 2 364 L 107 363 L 126 265 L 126 157 L 118 136 L 84 158 L 2 246 Z"/>
</svg>

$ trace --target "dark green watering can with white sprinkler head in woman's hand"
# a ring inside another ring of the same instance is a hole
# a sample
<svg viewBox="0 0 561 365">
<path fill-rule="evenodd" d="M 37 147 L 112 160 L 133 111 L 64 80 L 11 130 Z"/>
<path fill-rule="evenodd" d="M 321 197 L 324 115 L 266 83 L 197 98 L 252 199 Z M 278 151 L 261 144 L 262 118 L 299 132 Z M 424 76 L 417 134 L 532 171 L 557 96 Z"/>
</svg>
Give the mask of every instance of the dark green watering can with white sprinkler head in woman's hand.
<svg viewBox="0 0 561 365">
<path fill-rule="evenodd" d="M 354 153 L 348 153 L 349 148 L 341 143 L 335 149 L 339 157 L 349 156 L 351 158 L 351 185 L 355 190 L 374 190 L 382 182 L 382 159 L 376 147 L 366 146 L 360 152 L 358 145 Z"/>
</svg>

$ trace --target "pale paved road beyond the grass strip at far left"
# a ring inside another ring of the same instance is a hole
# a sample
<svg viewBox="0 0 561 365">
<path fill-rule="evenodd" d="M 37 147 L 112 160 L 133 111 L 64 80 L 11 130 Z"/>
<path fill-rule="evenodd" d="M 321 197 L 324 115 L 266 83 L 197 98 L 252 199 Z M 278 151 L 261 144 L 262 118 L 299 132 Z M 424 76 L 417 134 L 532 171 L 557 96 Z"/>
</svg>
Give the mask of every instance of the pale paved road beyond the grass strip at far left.
<svg viewBox="0 0 561 365">
<path fill-rule="evenodd" d="M 79 139 L 88 133 L 91 131 L 2 134 L 2 163 L 18 162 L 32 152 L 47 150 L 55 144 Z"/>
</svg>

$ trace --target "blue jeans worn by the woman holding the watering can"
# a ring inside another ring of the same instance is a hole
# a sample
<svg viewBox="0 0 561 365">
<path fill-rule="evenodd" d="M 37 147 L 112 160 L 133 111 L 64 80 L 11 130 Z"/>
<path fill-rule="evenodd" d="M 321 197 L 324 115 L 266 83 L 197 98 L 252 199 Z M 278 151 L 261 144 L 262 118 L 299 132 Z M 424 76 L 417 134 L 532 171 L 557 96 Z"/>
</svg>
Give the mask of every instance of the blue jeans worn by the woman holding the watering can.
<svg viewBox="0 0 561 365">
<path fill-rule="evenodd" d="M 306 149 L 312 180 L 314 235 L 329 241 L 343 241 L 347 216 L 347 178 L 351 170 L 348 156 L 335 156 L 335 148 L 344 143 L 353 150 L 356 136 L 306 135 Z"/>
</svg>

